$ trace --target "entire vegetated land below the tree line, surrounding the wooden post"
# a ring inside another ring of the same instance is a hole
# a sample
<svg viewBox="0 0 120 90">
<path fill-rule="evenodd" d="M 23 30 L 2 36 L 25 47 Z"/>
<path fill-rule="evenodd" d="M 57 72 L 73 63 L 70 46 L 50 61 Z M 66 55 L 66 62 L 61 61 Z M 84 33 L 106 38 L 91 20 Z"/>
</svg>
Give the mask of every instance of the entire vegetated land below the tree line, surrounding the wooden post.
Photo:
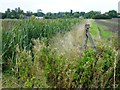
<svg viewBox="0 0 120 90">
<path fill-rule="evenodd" d="M 81 49 L 86 23 L 97 52 L 90 43 Z M 3 20 L 2 87 L 120 87 L 116 27 L 116 21 L 82 18 Z"/>
</svg>

